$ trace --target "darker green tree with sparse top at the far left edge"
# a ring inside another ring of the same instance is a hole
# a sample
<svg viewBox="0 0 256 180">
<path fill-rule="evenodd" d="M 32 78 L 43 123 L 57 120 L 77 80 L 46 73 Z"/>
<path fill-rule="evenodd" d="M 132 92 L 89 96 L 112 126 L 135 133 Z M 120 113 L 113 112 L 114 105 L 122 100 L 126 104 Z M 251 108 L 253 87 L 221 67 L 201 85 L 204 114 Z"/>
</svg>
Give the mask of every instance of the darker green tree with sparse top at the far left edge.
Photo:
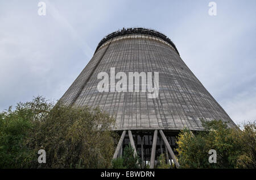
<svg viewBox="0 0 256 180">
<path fill-rule="evenodd" d="M 51 107 L 44 98 L 37 97 L 0 114 L 0 168 L 30 167 L 36 153 L 26 145 L 27 137 Z"/>
</svg>

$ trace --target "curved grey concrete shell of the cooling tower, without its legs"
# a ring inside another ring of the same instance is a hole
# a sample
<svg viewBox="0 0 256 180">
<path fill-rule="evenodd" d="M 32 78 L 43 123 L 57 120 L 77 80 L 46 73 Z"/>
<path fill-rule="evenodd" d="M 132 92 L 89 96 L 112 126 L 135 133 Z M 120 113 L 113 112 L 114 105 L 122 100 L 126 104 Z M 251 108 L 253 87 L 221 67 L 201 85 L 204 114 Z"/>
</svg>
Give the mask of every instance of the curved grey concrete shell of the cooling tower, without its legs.
<svg viewBox="0 0 256 180">
<path fill-rule="evenodd" d="M 127 74 L 159 72 L 159 97 L 150 99 L 146 92 L 141 91 L 100 93 L 97 85 L 101 79 L 97 79 L 97 75 L 100 72 L 110 74 L 110 68 L 115 68 L 115 73 Z M 69 106 L 100 106 L 116 119 L 113 130 L 133 130 L 135 148 L 142 148 L 142 137 L 148 132 L 149 135 L 143 139 L 144 146 L 148 144 L 149 147 L 148 152 L 144 150 L 148 160 L 154 144 L 152 130 L 170 134 L 167 141 L 172 146 L 172 132 L 184 127 L 192 131 L 203 130 L 200 119 L 221 119 L 229 127 L 236 127 L 181 60 L 174 43 L 165 35 L 144 28 L 123 29 L 104 37 L 92 59 L 60 101 Z M 160 145 L 162 141 L 157 140 L 157 145 Z"/>
</svg>

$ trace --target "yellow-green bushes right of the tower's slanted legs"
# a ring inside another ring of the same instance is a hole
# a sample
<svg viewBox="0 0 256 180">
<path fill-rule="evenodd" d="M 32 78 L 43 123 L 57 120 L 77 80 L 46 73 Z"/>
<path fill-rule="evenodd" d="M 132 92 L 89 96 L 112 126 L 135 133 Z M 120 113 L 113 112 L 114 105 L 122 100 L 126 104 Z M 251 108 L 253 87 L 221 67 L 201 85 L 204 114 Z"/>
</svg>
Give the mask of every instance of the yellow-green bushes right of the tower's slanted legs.
<svg viewBox="0 0 256 180">
<path fill-rule="evenodd" d="M 177 140 L 181 168 L 255 168 L 255 123 L 244 129 L 227 128 L 221 120 L 203 122 L 205 131 L 193 135 L 184 129 Z M 217 152 L 217 163 L 208 161 L 209 150 Z"/>
</svg>

